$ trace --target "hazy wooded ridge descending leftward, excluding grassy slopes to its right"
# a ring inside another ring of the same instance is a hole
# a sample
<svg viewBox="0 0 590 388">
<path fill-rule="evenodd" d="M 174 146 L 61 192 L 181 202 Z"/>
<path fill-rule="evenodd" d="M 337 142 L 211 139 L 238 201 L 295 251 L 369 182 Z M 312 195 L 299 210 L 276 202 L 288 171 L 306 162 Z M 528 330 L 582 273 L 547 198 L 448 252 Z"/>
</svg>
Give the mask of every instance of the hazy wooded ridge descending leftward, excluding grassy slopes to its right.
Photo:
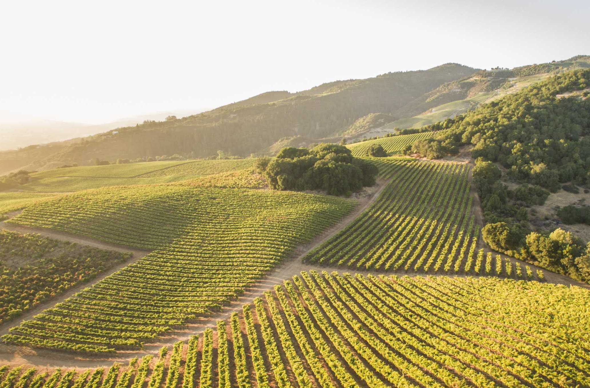
<svg viewBox="0 0 590 388">
<path fill-rule="evenodd" d="M 298 93 L 263 93 L 182 119 L 149 121 L 77 142 L 0 152 L 0 174 L 27 165 L 36 170 L 55 161 L 82 165 L 92 158 L 115 160 L 172 154 L 200 158 L 218 150 L 250 155 L 286 136 L 319 139 L 335 135 L 370 113 L 398 117 L 398 111 L 412 100 L 474 71 L 459 64 L 445 64 L 429 70 L 335 81 Z"/>
</svg>

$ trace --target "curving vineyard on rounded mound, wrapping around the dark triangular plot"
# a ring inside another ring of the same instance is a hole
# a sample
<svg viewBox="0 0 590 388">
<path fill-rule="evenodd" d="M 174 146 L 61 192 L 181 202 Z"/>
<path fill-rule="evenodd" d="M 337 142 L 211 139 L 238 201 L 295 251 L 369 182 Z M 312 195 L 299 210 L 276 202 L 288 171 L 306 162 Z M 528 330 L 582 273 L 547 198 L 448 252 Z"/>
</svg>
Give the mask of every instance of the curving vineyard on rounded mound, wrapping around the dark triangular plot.
<svg viewBox="0 0 590 388">
<path fill-rule="evenodd" d="M 86 191 L 29 207 L 11 222 L 153 252 L 2 338 L 91 353 L 141 348 L 218 311 L 356 204 L 305 193 L 157 185 Z"/>
</svg>

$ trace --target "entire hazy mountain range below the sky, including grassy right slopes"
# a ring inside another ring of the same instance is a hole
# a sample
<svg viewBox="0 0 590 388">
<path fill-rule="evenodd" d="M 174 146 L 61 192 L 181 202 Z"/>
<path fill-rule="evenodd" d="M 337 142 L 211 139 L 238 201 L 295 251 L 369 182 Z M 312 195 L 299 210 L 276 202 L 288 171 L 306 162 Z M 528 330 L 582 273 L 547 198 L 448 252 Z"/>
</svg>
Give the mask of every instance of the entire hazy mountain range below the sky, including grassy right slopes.
<svg viewBox="0 0 590 388">
<path fill-rule="evenodd" d="M 84 139 L 0 152 L 0 174 L 24 166 L 87 164 L 93 158 L 113 161 L 172 154 L 200 158 L 218 150 L 247 156 L 274 152 L 284 144 L 382 135 L 396 126 L 409 128 L 464 113 L 527 82 L 586 66 L 590 66 L 586 56 L 512 70 L 447 63 L 428 70 L 333 81 L 296 93 L 267 92 L 198 115 L 150 119 Z"/>
</svg>

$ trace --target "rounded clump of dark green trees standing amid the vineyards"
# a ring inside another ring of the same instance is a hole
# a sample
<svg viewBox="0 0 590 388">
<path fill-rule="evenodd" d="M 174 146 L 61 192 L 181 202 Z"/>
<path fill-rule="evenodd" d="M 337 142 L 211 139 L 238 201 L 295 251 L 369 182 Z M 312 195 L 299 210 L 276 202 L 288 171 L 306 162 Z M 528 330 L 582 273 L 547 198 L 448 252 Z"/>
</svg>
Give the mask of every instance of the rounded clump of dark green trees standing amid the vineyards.
<svg viewBox="0 0 590 388">
<path fill-rule="evenodd" d="M 283 148 L 274 159 L 259 158 L 256 167 L 275 190 L 324 190 L 332 195 L 350 195 L 372 186 L 378 173 L 375 165 L 336 144 Z"/>
</svg>

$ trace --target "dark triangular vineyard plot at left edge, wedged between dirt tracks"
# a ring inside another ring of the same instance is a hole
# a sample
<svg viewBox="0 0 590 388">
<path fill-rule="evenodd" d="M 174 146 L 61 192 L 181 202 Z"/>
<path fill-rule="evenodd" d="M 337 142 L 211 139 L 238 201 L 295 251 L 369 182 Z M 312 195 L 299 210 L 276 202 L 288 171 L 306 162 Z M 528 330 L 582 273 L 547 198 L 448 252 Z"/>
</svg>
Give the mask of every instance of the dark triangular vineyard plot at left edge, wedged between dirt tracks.
<svg viewBox="0 0 590 388">
<path fill-rule="evenodd" d="M 0 324 L 130 259 L 38 234 L 0 230 Z"/>
</svg>

